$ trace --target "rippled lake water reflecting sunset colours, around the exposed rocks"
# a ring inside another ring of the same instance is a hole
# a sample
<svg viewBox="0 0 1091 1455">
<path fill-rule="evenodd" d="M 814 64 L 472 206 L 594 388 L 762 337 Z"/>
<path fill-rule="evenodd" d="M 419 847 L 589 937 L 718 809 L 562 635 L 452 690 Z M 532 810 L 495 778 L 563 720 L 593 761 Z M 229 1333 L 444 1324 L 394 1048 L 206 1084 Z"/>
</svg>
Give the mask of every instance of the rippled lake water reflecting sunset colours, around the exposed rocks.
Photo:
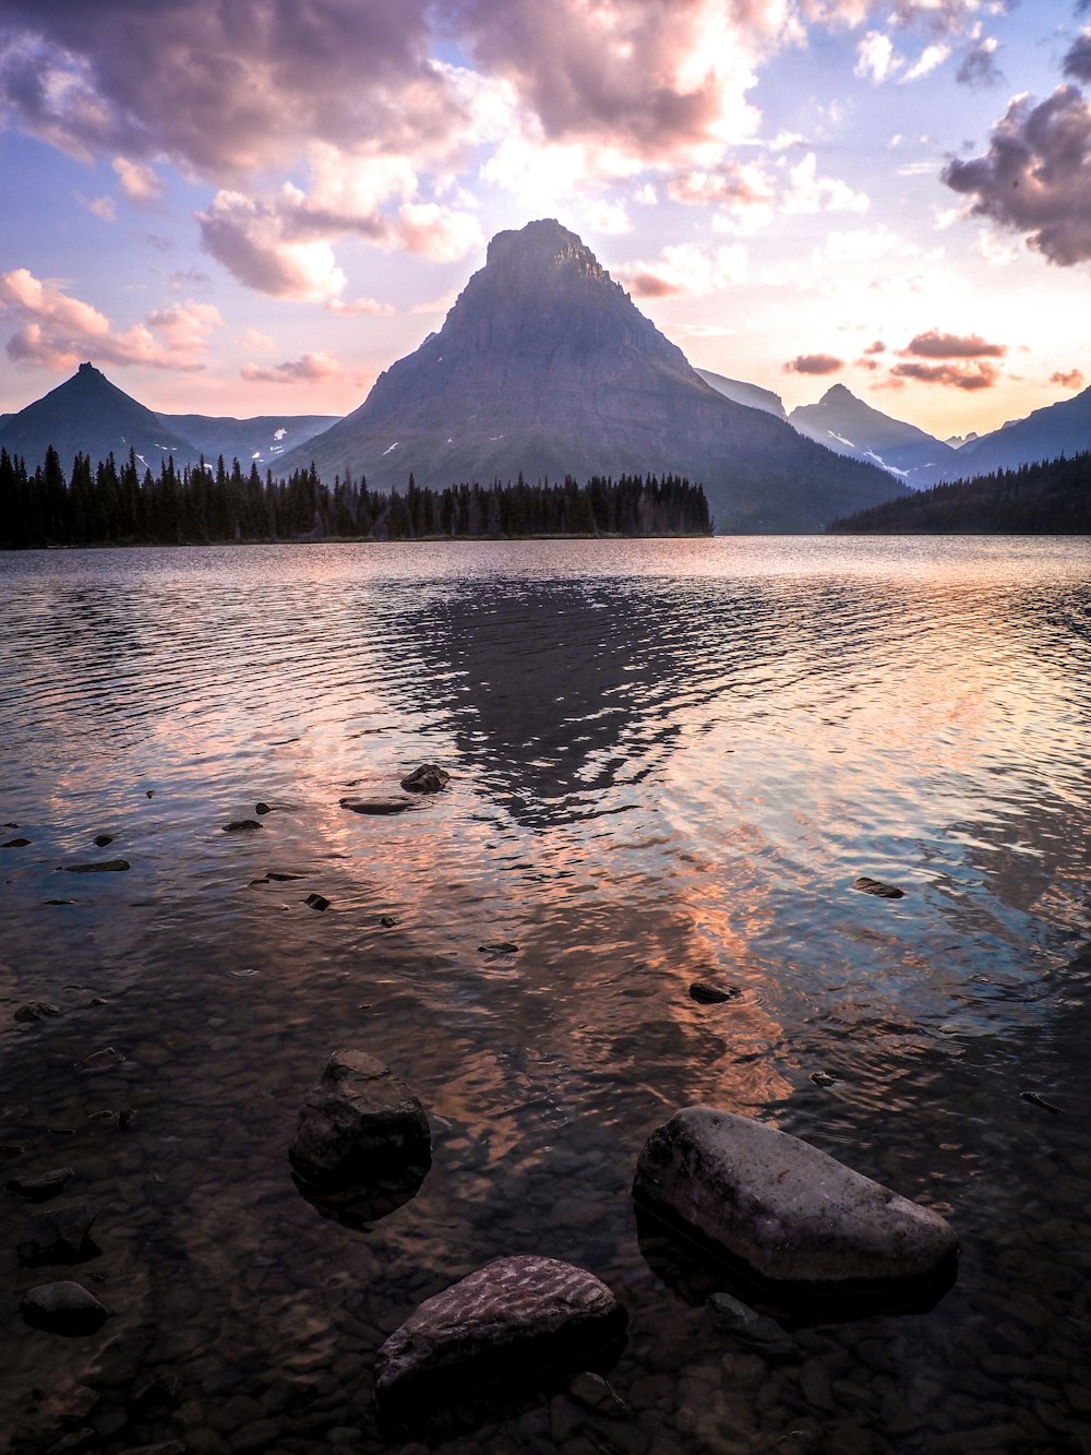
<svg viewBox="0 0 1091 1455">
<path fill-rule="evenodd" d="M 0 1195 L 16 1451 L 1091 1451 L 1091 543 L 3 554 L 0 643 L 4 1176 L 71 1167 L 100 1248 L 20 1269 Z M 426 761 L 419 809 L 339 806 Z M 708 975 L 739 997 L 695 1004 Z M 285 1157 L 339 1046 L 433 1132 L 362 1224 Z M 954 1286 L 742 1292 L 796 1336 L 775 1363 L 716 1328 L 733 1275 L 630 1199 L 694 1101 L 941 1211 Z M 626 1304 L 628 1414 L 546 1390 L 380 1430 L 383 1339 L 524 1251 Z M 99 1333 L 22 1323 L 57 1276 Z"/>
</svg>

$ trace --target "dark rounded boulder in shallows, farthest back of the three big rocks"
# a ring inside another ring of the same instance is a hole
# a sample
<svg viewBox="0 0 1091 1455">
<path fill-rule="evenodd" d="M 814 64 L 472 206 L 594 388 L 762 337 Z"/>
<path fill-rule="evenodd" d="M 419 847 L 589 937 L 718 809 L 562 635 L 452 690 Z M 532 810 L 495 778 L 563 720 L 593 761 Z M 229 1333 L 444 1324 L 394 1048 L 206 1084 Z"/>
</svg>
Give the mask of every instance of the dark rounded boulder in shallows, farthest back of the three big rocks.
<svg viewBox="0 0 1091 1455">
<path fill-rule="evenodd" d="M 362 1051 L 335 1051 L 303 1103 L 288 1157 L 304 1181 L 336 1187 L 391 1163 L 426 1163 L 431 1148 L 425 1109 L 404 1081 Z"/>
</svg>

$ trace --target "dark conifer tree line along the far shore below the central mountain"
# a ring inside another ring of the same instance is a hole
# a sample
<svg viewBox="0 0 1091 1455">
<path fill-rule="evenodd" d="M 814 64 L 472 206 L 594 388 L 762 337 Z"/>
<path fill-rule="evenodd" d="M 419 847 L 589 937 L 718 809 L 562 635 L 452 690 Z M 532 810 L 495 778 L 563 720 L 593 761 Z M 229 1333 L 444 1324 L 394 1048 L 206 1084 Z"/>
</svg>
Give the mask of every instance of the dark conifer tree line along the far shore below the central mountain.
<svg viewBox="0 0 1091 1455">
<path fill-rule="evenodd" d="M 230 541 L 505 538 L 527 535 L 711 535 L 700 485 L 678 474 L 578 483 L 451 485 L 404 492 L 368 489 L 364 477 L 319 479 L 314 466 L 287 479 L 243 471 L 223 455 L 159 474 L 131 450 L 92 464 L 77 454 L 65 476 L 51 447 L 33 473 L 0 450 L 0 547 L 208 546 Z"/>
</svg>

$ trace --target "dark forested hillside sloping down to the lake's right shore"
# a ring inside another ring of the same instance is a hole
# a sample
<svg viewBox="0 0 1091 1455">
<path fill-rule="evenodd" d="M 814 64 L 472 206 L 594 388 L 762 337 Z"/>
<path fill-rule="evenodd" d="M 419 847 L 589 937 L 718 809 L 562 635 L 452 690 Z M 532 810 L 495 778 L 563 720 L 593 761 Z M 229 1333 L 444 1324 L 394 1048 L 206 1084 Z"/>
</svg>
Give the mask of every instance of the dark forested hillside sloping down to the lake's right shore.
<svg viewBox="0 0 1091 1455">
<path fill-rule="evenodd" d="M 1091 535 L 1091 451 L 934 485 L 847 519 L 847 535 Z"/>
</svg>

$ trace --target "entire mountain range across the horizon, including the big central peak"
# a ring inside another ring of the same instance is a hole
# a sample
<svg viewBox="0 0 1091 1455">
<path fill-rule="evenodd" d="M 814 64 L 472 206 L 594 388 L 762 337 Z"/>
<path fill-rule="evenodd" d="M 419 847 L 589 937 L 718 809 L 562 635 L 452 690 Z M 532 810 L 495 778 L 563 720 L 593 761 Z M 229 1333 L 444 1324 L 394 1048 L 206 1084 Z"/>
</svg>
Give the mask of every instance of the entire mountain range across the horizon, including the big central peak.
<svg viewBox="0 0 1091 1455">
<path fill-rule="evenodd" d="M 351 471 L 377 489 L 676 471 L 722 531 L 810 531 L 906 489 L 1091 448 L 1091 388 L 988 435 L 937 439 L 835 384 L 786 413 L 772 390 L 694 370 L 554 220 L 497 234 L 439 333 L 336 415 L 154 413 L 92 364 L 17 413 L 0 447 L 65 469 L 135 450 L 153 473 L 223 455 Z"/>
</svg>

